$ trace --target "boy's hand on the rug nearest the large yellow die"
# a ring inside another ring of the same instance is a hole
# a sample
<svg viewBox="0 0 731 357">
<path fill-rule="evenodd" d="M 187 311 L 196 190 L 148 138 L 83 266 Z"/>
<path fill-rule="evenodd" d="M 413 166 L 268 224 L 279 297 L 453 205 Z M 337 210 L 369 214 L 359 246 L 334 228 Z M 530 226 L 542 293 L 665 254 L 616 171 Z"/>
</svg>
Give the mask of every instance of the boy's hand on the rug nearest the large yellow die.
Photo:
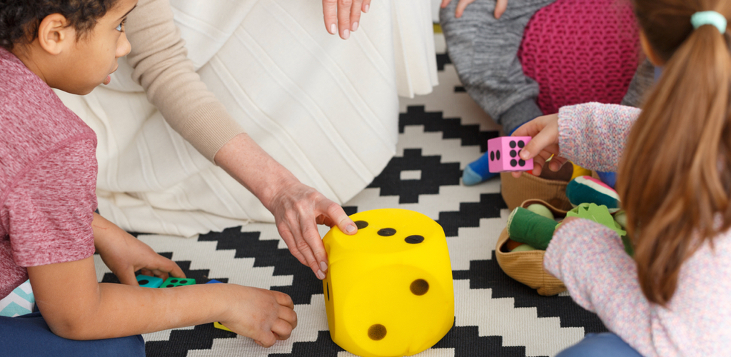
<svg viewBox="0 0 731 357">
<path fill-rule="evenodd" d="M 297 327 L 297 313 L 292 298 L 279 291 L 230 285 L 237 288 L 230 311 L 219 322 L 242 336 L 251 337 L 262 347 L 271 347 L 277 339 L 288 339 Z"/>
</svg>

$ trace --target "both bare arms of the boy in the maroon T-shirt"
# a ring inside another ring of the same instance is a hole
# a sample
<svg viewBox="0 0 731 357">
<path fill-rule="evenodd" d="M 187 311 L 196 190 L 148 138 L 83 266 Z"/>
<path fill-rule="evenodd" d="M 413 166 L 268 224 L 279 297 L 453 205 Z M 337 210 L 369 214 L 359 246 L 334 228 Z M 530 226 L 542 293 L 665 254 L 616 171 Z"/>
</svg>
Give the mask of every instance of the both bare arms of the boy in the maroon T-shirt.
<svg viewBox="0 0 731 357">
<path fill-rule="evenodd" d="M 183 272 L 171 260 L 100 216 L 96 248 L 129 285 L 96 282 L 94 258 L 28 268 L 38 308 L 51 330 L 69 339 L 103 339 L 220 321 L 269 347 L 297 326 L 292 299 L 276 291 L 233 284 L 140 288 L 134 272 Z"/>
</svg>

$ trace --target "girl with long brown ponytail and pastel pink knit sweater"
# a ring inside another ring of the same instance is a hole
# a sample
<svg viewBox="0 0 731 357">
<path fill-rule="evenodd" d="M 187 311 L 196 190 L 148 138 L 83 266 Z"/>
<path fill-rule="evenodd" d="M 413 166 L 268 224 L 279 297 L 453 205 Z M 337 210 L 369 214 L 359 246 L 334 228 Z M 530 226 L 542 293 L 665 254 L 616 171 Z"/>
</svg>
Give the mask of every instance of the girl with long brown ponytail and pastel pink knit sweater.
<svg viewBox="0 0 731 357">
<path fill-rule="evenodd" d="M 574 105 L 513 134 L 533 137 L 520 156 L 535 174 L 551 155 L 552 170 L 618 169 L 635 248 L 586 219 L 554 233 L 546 270 L 613 333 L 559 356 L 731 356 L 731 1 L 634 4 L 643 50 L 663 67 L 642 110 Z"/>
</svg>

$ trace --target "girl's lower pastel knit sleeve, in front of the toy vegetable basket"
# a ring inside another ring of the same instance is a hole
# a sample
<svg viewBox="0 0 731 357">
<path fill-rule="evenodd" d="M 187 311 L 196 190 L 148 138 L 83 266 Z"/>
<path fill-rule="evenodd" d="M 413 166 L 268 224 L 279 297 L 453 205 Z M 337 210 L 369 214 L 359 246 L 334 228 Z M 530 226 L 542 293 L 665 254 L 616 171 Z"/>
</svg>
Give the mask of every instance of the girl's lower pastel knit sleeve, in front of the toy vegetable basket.
<svg viewBox="0 0 731 357">
<path fill-rule="evenodd" d="M 650 304 L 637 282 L 635 260 L 624 252 L 616 232 L 588 219 L 561 225 L 546 249 L 543 266 L 610 331 L 643 356 L 656 356 Z"/>
</svg>

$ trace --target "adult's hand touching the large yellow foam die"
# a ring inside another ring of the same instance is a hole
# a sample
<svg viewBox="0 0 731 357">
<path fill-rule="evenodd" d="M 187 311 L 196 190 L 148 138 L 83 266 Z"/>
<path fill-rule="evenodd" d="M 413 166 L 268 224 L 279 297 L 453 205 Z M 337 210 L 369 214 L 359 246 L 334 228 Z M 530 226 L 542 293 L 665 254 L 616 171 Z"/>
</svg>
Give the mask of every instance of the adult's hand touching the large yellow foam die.
<svg viewBox="0 0 731 357">
<path fill-rule="evenodd" d="M 355 223 L 340 205 L 299 181 L 280 189 L 268 208 L 289 252 L 319 279 L 325 279 L 327 252 L 317 225 L 337 225 L 347 234 L 357 232 Z"/>
</svg>

